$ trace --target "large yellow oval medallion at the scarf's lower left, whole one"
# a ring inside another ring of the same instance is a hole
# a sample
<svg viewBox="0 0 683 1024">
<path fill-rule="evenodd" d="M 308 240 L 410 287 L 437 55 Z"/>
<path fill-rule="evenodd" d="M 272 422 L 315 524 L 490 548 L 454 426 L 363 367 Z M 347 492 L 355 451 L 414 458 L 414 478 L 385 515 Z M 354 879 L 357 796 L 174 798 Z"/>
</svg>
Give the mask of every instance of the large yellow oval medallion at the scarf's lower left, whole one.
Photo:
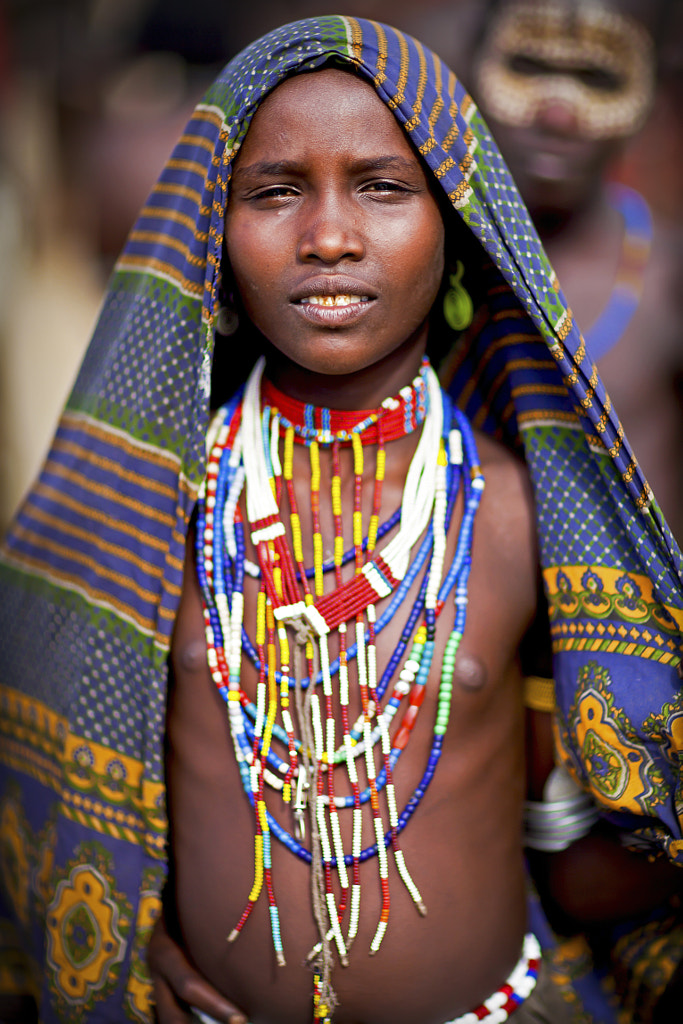
<svg viewBox="0 0 683 1024">
<path fill-rule="evenodd" d="M 59 1020 L 81 1021 L 120 982 L 132 908 L 111 881 L 112 857 L 85 843 L 47 908 L 46 968 Z"/>
</svg>

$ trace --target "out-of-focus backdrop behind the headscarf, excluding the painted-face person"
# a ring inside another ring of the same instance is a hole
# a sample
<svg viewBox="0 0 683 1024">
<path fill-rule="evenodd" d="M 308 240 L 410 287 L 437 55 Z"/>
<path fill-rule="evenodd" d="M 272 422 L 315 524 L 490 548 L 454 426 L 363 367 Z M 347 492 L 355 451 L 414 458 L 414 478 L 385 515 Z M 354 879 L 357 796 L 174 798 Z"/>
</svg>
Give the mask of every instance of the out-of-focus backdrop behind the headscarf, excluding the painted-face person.
<svg viewBox="0 0 683 1024">
<path fill-rule="evenodd" d="M 652 113 L 613 169 L 683 222 L 683 18 Z M 0 526 L 35 475 L 106 275 L 194 103 L 227 58 L 312 14 L 388 22 L 469 84 L 481 0 L 0 0 Z"/>
</svg>

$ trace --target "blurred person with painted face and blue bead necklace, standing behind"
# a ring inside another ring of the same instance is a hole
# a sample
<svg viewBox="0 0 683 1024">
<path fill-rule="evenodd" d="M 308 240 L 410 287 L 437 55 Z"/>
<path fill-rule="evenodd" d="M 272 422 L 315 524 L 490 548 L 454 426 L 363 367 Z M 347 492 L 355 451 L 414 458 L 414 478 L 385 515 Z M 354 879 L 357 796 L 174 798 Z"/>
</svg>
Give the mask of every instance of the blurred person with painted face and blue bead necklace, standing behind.
<svg viewBox="0 0 683 1024">
<path fill-rule="evenodd" d="M 657 57 L 680 58 L 667 47 L 680 40 L 681 5 L 500 0 L 483 6 L 470 87 L 681 541 L 683 232 L 666 201 L 672 185 L 680 190 L 682 154 L 680 134 L 668 140 L 663 130 L 661 103 L 658 130 L 643 131 L 657 96 Z M 642 172 L 642 163 L 628 161 L 638 136 L 646 173 L 635 175 L 639 188 L 633 188 L 616 179 L 633 178 L 634 167 Z M 667 179 L 672 167 L 674 181 Z"/>
</svg>

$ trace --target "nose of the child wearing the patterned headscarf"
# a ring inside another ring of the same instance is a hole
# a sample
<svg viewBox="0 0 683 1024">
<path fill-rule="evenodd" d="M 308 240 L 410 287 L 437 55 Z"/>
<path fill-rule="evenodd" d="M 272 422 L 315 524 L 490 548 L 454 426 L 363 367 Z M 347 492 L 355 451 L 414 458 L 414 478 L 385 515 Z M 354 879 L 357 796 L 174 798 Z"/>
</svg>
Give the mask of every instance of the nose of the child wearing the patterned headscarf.
<svg viewBox="0 0 683 1024">
<path fill-rule="evenodd" d="M 299 240 L 299 259 L 337 263 L 358 260 L 366 246 L 359 230 L 359 211 L 337 195 L 326 195 L 306 210 Z"/>
</svg>

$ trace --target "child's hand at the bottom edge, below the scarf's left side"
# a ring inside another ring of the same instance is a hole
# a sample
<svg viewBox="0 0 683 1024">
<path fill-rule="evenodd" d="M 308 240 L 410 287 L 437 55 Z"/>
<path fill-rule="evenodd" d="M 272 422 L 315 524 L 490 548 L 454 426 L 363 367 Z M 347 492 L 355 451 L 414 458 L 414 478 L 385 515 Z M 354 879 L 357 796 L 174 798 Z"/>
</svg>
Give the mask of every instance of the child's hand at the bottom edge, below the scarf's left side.
<svg viewBox="0 0 683 1024">
<path fill-rule="evenodd" d="M 246 1016 L 191 966 L 168 934 L 163 914 L 152 932 L 147 964 L 159 1024 L 188 1024 L 193 1020 L 193 1008 L 220 1024 L 248 1024 Z"/>
</svg>

